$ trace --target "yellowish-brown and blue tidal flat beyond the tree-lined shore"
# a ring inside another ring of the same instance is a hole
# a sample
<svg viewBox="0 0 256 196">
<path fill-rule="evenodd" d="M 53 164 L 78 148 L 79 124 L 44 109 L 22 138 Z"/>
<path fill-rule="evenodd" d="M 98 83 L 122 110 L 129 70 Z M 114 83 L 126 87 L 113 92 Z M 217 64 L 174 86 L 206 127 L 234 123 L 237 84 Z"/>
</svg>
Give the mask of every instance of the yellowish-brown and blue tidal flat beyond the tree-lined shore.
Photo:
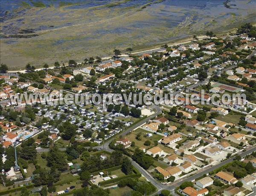
<svg viewBox="0 0 256 196">
<path fill-rule="evenodd" d="M 150 6 L 148 6 L 148 4 Z M 207 30 L 228 32 L 254 22 L 255 1 L 236 1 L 235 8 L 215 1 L 9 1 L 1 3 L 1 63 L 20 70 L 27 63 L 42 67 L 56 60 L 113 55 L 189 40 Z M 76 14 L 73 14 L 76 13 Z M 150 25 L 149 25 L 150 24 Z M 149 33 L 150 32 L 150 33 Z M 28 47 L 29 45 L 29 47 Z"/>
</svg>

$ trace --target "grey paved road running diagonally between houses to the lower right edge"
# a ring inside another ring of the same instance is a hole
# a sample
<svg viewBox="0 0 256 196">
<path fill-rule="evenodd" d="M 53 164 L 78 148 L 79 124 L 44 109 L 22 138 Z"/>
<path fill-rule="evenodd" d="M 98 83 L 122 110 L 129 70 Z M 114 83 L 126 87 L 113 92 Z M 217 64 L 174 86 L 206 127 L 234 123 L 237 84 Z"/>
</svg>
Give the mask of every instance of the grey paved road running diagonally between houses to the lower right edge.
<svg viewBox="0 0 256 196">
<path fill-rule="evenodd" d="M 240 153 L 239 155 L 240 155 L 241 157 L 244 157 L 244 156 L 246 156 L 246 155 L 248 155 L 248 154 L 250 154 L 250 153 L 253 153 L 254 151 L 256 151 L 256 146 L 255 146 L 255 147 L 252 147 L 252 148 L 249 148 L 247 151 L 242 152 L 242 153 Z M 199 173 L 196 173 L 196 174 L 193 175 L 193 176 L 189 176 L 189 177 L 186 178 L 186 179 L 181 179 L 180 181 L 176 181 L 175 183 L 172 183 L 171 185 L 166 186 L 164 189 L 167 189 L 167 190 L 174 190 L 176 187 L 180 186 L 183 182 L 185 182 L 185 181 L 191 182 L 191 181 L 193 181 L 193 180 L 195 180 L 195 179 L 197 179 L 197 178 L 203 176 L 204 174 L 209 173 L 209 172 L 212 171 L 212 170 L 215 170 L 215 169 L 217 169 L 217 168 L 219 168 L 219 167 L 221 167 L 221 166 L 223 166 L 223 165 L 225 165 L 225 164 L 227 164 L 227 163 L 232 162 L 233 160 L 234 160 L 234 157 L 233 157 L 233 158 L 230 158 L 230 159 L 227 159 L 227 160 L 224 161 L 224 162 L 220 162 L 218 165 L 214 165 L 214 166 L 212 166 L 212 167 L 210 167 L 210 168 L 206 168 L 206 169 L 204 169 L 204 170 L 200 170 Z M 158 191 L 157 191 L 157 194 L 160 194 L 160 192 L 161 192 L 161 191 L 158 190 Z M 152 194 L 152 195 L 155 195 L 155 194 L 156 194 L 156 193 L 154 193 L 154 194 Z"/>
</svg>

